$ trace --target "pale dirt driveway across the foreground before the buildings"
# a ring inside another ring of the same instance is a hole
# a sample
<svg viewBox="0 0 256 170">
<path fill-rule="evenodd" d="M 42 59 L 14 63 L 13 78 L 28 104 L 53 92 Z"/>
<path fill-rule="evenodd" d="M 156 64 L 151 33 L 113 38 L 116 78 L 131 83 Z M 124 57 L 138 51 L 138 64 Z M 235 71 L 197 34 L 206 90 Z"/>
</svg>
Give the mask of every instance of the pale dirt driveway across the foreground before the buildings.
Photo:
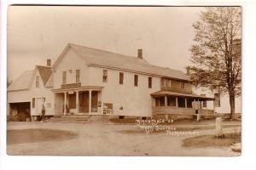
<svg viewBox="0 0 256 170">
<path fill-rule="evenodd" d="M 183 148 L 186 136 L 166 133 L 123 133 L 140 129 L 137 125 L 109 124 L 102 122 L 8 122 L 8 130 L 55 129 L 77 133 L 65 140 L 8 144 L 9 155 L 47 156 L 236 156 L 230 147 Z M 207 131 L 199 131 L 206 133 Z"/>
</svg>

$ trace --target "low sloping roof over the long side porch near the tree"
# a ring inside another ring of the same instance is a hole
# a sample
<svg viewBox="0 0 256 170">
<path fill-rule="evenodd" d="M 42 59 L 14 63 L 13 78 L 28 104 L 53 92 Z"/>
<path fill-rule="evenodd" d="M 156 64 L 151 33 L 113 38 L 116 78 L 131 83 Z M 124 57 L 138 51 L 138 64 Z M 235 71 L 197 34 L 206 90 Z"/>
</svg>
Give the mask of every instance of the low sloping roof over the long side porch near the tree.
<svg viewBox="0 0 256 170">
<path fill-rule="evenodd" d="M 165 95 L 172 95 L 172 96 L 182 96 L 182 97 L 189 97 L 193 99 L 202 99 L 202 100 L 214 100 L 214 98 L 206 97 L 206 96 L 201 96 L 197 94 L 185 94 L 185 93 L 179 93 L 179 92 L 172 92 L 172 91 L 165 91 L 165 90 L 160 90 L 157 92 L 154 92 L 153 94 L 150 94 L 153 97 L 160 97 L 160 96 L 165 96 Z"/>
</svg>

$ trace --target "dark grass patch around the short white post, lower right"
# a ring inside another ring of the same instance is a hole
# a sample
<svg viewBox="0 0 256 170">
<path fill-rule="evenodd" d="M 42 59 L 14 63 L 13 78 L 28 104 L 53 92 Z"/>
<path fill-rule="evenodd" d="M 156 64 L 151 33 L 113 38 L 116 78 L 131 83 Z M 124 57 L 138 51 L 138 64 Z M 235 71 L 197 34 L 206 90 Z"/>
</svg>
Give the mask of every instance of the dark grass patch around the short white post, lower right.
<svg viewBox="0 0 256 170">
<path fill-rule="evenodd" d="M 225 133 L 224 138 L 217 138 L 214 135 L 202 135 L 183 140 L 183 147 L 219 147 L 230 146 L 241 142 L 241 133 Z"/>
</svg>

